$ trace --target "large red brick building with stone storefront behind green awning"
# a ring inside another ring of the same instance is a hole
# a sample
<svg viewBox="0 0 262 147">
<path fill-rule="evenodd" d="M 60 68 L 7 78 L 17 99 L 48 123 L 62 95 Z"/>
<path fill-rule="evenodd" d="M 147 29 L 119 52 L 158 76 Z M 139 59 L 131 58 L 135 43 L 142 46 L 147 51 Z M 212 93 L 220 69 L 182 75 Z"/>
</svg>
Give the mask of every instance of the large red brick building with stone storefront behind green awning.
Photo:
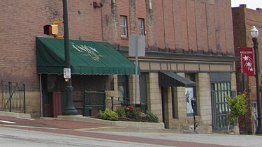
<svg viewBox="0 0 262 147">
<path fill-rule="evenodd" d="M 45 24 L 63 20 L 62 1 L 4 0 L 0 6 L 1 80 L 25 84 L 27 113 L 48 116 L 54 109 L 48 106 L 52 95 L 64 91 L 64 78 L 61 73 L 39 72 L 36 40 L 48 40 L 40 37 Z M 230 0 L 68 1 L 71 39 L 109 42 L 134 62 L 128 55 L 129 36 L 145 36 L 137 98 L 136 76 L 131 73 L 76 74 L 74 91 L 106 91 L 108 97 L 126 98 L 157 114 L 167 128 L 183 130 L 193 124 L 189 99 L 196 99 L 198 130 L 223 129 L 228 111 L 224 95 L 236 91 L 228 14 Z"/>
</svg>

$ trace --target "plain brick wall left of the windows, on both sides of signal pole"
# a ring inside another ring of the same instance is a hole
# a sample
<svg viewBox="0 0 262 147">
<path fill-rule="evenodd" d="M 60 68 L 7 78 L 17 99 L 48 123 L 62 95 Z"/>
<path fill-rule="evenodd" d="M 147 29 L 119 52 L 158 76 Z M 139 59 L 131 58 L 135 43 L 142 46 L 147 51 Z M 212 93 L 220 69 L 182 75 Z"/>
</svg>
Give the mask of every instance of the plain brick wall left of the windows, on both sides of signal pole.
<svg viewBox="0 0 262 147">
<path fill-rule="evenodd" d="M 26 84 L 27 90 L 38 90 L 36 36 L 44 36 L 45 24 L 63 20 L 62 1 L 4 0 L 0 6 L 1 80 Z M 68 1 L 68 20 L 70 38 L 102 40 L 101 8 L 93 8 L 91 0 Z M 62 31 L 63 24 L 61 35 Z"/>
</svg>

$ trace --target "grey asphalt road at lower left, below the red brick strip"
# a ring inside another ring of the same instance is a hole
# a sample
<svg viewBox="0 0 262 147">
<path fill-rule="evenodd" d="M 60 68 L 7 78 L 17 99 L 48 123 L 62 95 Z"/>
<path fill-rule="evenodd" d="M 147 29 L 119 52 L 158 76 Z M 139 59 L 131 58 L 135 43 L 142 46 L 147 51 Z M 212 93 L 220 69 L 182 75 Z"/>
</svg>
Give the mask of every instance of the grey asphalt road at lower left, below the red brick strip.
<svg viewBox="0 0 262 147">
<path fill-rule="evenodd" d="M 45 146 L 152 146 L 150 144 L 139 144 L 136 142 L 114 141 L 108 139 L 95 139 L 91 137 L 79 137 L 66 134 L 55 134 L 48 132 L 36 132 L 31 130 L 20 130 L 0 127 L 0 146 L 20 147 L 45 147 Z"/>
</svg>

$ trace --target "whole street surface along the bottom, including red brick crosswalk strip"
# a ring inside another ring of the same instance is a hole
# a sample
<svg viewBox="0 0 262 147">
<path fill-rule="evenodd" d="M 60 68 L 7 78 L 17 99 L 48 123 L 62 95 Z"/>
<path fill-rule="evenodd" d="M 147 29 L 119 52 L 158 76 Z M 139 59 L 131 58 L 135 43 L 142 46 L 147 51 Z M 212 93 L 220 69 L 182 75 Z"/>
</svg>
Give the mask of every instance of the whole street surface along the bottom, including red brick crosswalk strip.
<svg viewBox="0 0 262 147">
<path fill-rule="evenodd" d="M 259 147 L 262 136 L 233 134 L 179 134 L 92 132 L 98 123 L 59 121 L 53 118 L 0 116 L 0 146 L 179 146 Z"/>
</svg>

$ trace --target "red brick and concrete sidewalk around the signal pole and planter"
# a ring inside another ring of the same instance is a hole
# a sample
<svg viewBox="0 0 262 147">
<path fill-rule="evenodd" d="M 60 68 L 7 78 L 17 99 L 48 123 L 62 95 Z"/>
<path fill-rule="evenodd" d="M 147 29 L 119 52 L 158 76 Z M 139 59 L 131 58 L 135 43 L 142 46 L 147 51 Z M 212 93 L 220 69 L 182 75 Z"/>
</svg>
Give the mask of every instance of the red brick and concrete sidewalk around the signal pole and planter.
<svg viewBox="0 0 262 147">
<path fill-rule="evenodd" d="M 24 118 L 24 119 L 22 119 Z M 182 132 L 166 130 L 163 123 L 106 121 L 84 116 L 58 116 L 58 118 L 34 118 L 29 114 L 17 114 L 0 111 L 0 119 L 15 122 L 13 125 L 29 127 L 48 127 L 71 130 L 91 130 L 109 132 Z M 8 125 L 1 123 L 0 125 Z"/>
</svg>

